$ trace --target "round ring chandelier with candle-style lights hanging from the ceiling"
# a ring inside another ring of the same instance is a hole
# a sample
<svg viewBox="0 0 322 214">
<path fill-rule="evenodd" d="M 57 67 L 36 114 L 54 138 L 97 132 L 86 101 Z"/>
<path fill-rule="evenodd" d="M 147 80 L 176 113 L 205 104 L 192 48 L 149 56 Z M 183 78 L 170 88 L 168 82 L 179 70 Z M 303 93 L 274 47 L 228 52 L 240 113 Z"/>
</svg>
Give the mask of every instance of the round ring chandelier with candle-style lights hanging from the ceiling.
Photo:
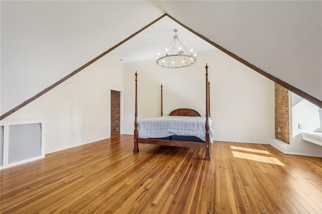
<svg viewBox="0 0 322 214">
<path fill-rule="evenodd" d="M 160 57 L 160 54 L 157 54 L 156 64 L 163 68 L 184 68 L 190 65 L 193 65 L 197 58 L 197 54 L 193 54 L 192 50 L 190 50 L 190 54 L 186 47 L 179 40 L 177 32 L 178 29 L 173 30 L 175 35 L 173 36 L 173 40 L 163 53 L 163 56 Z M 169 49 L 170 48 L 170 49 Z"/>
</svg>

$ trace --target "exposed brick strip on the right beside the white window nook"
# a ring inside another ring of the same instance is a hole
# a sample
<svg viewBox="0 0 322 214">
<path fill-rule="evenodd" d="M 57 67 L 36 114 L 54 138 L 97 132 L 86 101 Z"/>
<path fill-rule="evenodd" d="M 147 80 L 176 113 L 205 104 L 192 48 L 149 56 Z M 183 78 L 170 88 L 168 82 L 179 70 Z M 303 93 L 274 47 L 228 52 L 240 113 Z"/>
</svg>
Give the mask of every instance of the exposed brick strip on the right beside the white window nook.
<svg viewBox="0 0 322 214">
<path fill-rule="evenodd" d="M 275 83 L 275 138 L 289 144 L 288 111 L 288 90 Z"/>
</svg>

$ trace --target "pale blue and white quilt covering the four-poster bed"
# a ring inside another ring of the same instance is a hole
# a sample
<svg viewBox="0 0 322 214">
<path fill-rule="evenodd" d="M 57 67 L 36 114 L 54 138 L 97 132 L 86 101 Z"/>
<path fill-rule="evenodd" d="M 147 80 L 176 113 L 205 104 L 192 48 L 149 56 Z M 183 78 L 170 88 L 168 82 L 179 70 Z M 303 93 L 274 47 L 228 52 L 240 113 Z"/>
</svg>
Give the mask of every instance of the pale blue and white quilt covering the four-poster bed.
<svg viewBox="0 0 322 214">
<path fill-rule="evenodd" d="M 208 118 L 210 142 L 213 142 L 212 119 Z M 164 116 L 138 122 L 139 138 L 165 138 L 172 135 L 194 136 L 206 140 L 206 117 Z"/>
</svg>

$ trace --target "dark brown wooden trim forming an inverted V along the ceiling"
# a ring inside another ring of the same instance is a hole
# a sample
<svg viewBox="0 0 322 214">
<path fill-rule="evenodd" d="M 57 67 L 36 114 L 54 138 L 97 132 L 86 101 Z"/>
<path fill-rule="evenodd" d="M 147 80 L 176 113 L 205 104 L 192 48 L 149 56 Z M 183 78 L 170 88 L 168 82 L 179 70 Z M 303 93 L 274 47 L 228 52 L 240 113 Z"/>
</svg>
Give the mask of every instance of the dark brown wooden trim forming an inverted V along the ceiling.
<svg viewBox="0 0 322 214">
<path fill-rule="evenodd" d="M 249 68 L 255 70 L 256 72 L 262 74 L 263 76 L 269 78 L 270 80 L 282 85 L 283 87 L 287 88 L 288 90 L 296 93 L 297 95 L 301 96 L 302 98 L 312 102 L 313 104 L 319 106 L 319 108 L 322 108 L 322 101 L 309 95 L 308 93 L 305 93 L 304 91 L 290 85 L 289 83 L 267 73 L 266 71 L 256 67 L 255 65 L 249 63 L 248 61 L 240 58 L 239 56 L 231 53 L 230 51 L 228 51 L 227 49 L 221 47 L 220 45 L 216 44 L 215 42 L 207 39 L 206 37 L 202 36 L 201 34 L 197 33 L 196 31 L 192 30 L 191 28 L 189 28 L 188 26 L 182 24 L 181 22 L 179 22 L 178 20 L 176 20 L 175 18 L 173 18 L 172 16 L 168 15 L 168 14 L 164 14 L 162 16 L 160 16 L 159 18 L 157 18 L 156 20 L 154 20 L 153 22 L 151 22 L 150 24 L 146 25 L 145 27 L 143 27 L 142 29 L 140 29 L 139 31 L 135 32 L 134 34 L 132 34 L 131 36 L 127 37 L 126 39 L 124 39 L 123 41 L 121 41 L 120 43 L 114 45 L 112 48 L 108 49 L 107 51 L 105 51 L 104 53 L 102 53 L 101 55 L 97 56 L 96 58 L 92 59 L 90 62 L 86 63 L 85 65 L 83 65 L 82 67 L 79 67 L 78 69 L 74 70 L 72 73 L 68 74 L 67 76 L 65 76 L 64 78 L 60 79 L 59 81 L 57 81 L 56 83 L 50 85 L 49 87 L 45 88 L 44 90 L 42 90 L 41 92 L 37 93 L 35 96 L 29 98 L 28 100 L 24 101 L 23 103 L 21 103 L 20 105 L 16 106 L 14 109 L 10 110 L 9 112 L 5 113 L 4 115 L 2 115 L 0 117 L 0 120 L 5 119 L 6 117 L 8 117 L 9 115 L 13 114 L 14 112 L 16 112 L 17 110 L 21 109 L 23 106 L 27 105 L 29 102 L 35 100 L 36 98 L 38 98 L 39 96 L 43 95 L 44 93 L 48 92 L 49 90 L 53 89 L 54 87 L 56 87 L 57 85 L 59 85 L 60 83 L 64 82 L 65 80 L 69 79 L 70 77 L 72 77 L 73 75 L 75 75 L 76 73 L 78 73 L 79 71 L 82 71 L 84 68 L 88 67 L 89 65 L 93 64 L 94 62 L 96 62 L 97 60 L 99 60 L 100 58 L 102 58 L 103 56 L 105 56 L 106 54 L 108 54 L 109 52 L 111 52 L 112 50 L 114 50 L 115 48 L 117 48 L 118 46 L 122 45 L 124 42 L 130 40 L 131 38 L 133 38 L 134 36 L 136 36 L 137 34 L 139 34 L 140 32 L 142 32 L 143 30 L 145 30 L 146 28 L 148 28 L 149 26 L 153 25 L 154 23 L 156 23 L 157 21 L 159 21 L 160 19 L 164 18 L 165 16 L 168 16 L 170 19 L 172 19 L 173 21 L 175 21 L 176 23 L 178 23 L 179 25 L 181 25 L 182 27 L 186 28 L 188 31 L 190 31 L 191 33 L 195 34 L 196 36 L 200 37 L 201 39 L 205 40 L 206 42 L 208 42 L 209 44 L 213 45 L 214 47 L 218 48 L 219 50 L 221 50 L 222 52 L 224 52 L 225 54 L 229 55 L 230 57 L 234 58 L 235 60 L 243 63 L 244 65 L 248 66 Z"/>
</svg>

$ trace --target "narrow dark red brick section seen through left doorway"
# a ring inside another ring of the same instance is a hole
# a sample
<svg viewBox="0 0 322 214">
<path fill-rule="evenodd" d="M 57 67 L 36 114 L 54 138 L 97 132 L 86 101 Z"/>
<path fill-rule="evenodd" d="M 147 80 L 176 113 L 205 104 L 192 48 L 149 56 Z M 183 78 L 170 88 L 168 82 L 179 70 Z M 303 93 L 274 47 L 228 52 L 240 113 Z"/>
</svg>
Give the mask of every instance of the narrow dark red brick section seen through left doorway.
<svg viewBox="0 0 322 214">
<path fill-rule="evenodd" d="M 111 133 L 120 133 L 121 92 L 111 90 Z"/>
</svg>

